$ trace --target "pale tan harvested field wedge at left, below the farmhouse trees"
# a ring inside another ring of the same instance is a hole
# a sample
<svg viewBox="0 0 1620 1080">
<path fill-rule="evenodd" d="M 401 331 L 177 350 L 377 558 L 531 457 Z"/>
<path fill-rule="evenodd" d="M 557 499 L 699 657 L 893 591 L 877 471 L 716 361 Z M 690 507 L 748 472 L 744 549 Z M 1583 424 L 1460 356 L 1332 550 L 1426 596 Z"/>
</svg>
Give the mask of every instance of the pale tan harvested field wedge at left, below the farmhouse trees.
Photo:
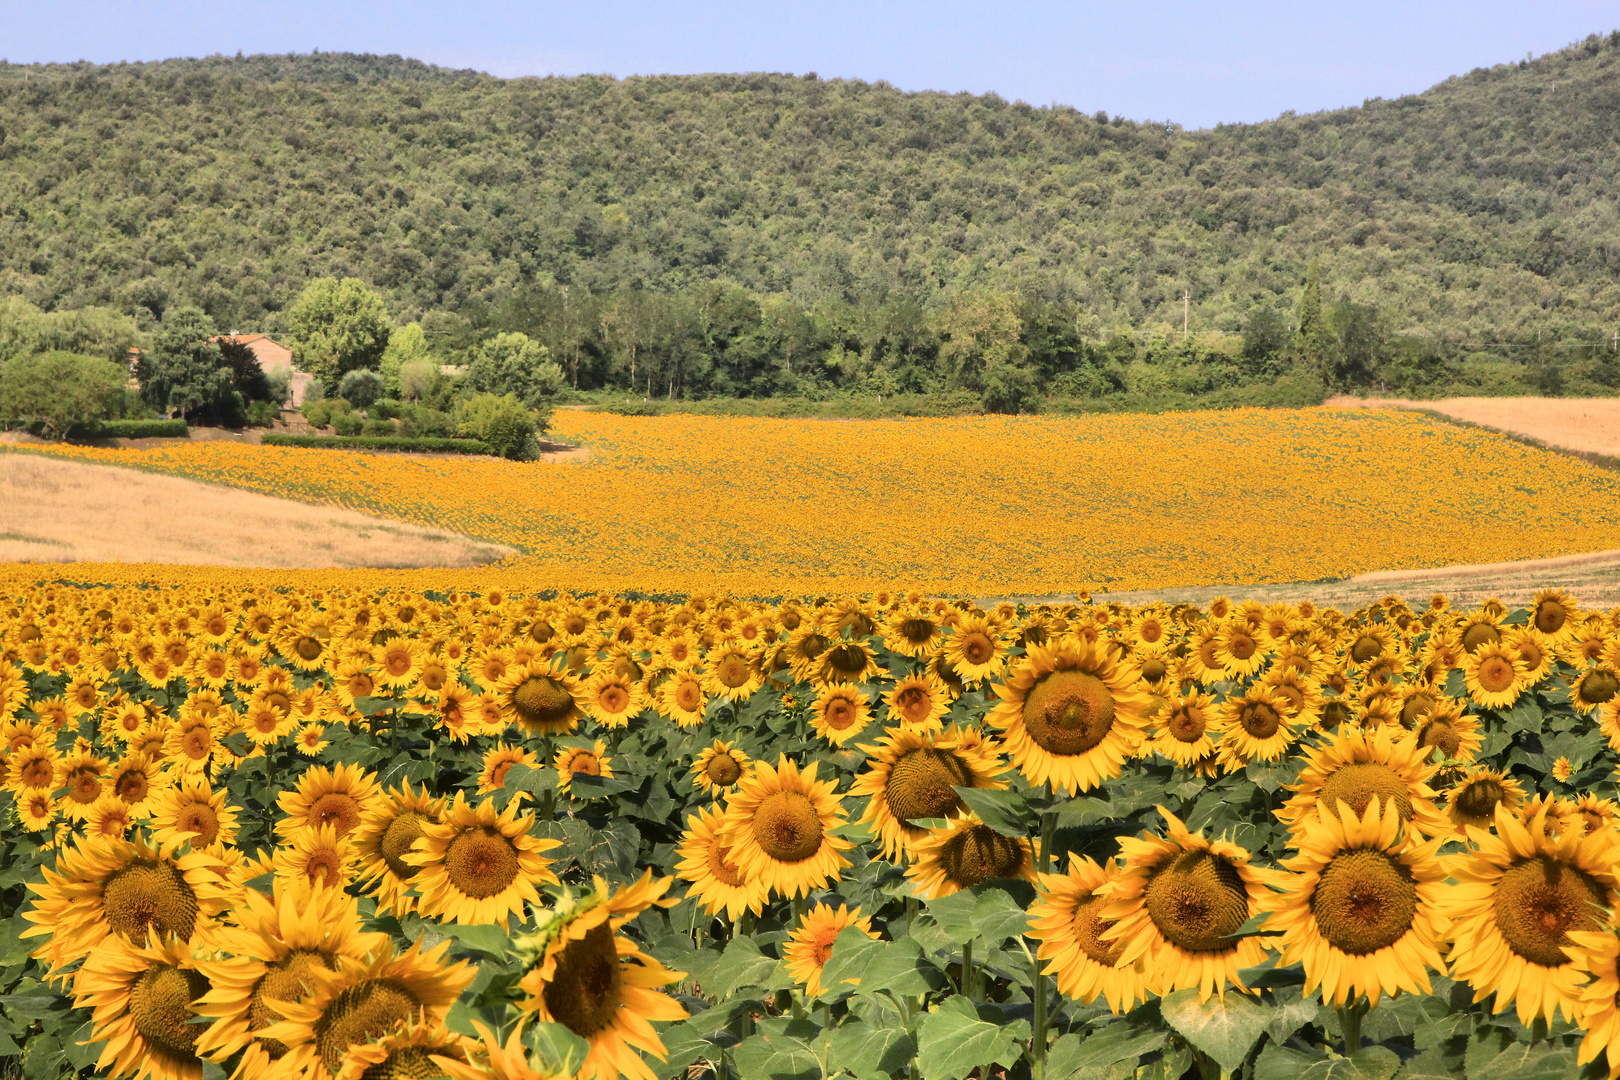
<svg viewBox="0 0 1620 1080">
<path fill-rule="evenodd" d="M 510 549 L 215 484 L 0 453 L 0 562 L 480 567 Z"/>
</svg>

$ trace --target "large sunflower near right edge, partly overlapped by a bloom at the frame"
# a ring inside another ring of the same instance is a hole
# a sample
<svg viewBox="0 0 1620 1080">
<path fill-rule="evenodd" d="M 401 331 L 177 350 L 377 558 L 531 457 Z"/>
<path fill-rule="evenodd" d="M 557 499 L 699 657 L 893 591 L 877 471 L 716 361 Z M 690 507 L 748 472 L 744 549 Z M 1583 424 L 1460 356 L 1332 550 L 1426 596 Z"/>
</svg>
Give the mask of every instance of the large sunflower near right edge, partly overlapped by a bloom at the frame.
<svg viewBox="0 0 1620 1080">
<path fill-rule="evenodd" d="M 1452 970 L 1495 994 L 1495 1012 L 1516 1006 L 1520 1022 L 1580 1018 L 1578 972 L 1565 952 L 1570 931 L 1594 931 L 1614 905 L 1615 839 L 1607 829 L 1554 839 L 1542 806 L 1520 821 L 1497 805 L 1495 832 L 1468 827 L 1471 852 L 1450 860 L 1456 886 L 1445 892 Z"/>
</svg>

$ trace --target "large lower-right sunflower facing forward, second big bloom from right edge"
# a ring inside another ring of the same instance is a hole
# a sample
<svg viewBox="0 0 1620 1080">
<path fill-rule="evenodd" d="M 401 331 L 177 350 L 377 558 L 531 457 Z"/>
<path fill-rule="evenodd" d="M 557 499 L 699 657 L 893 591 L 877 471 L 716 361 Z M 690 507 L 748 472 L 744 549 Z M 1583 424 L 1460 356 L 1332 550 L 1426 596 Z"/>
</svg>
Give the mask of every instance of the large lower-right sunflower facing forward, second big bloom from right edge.
<svg viewBox="0 0 1620 1080">
<path fill-rule="evenodd" d="M 1393 798 L 1362 814 L 1345 801 L 1320 803 L 1296 834 L 1299 853 L 1283 860 L 1281 892 L 1268 897 L 1267 929 L 1281 931 L 1280 965 L 1304 963 L 1306 996 L 1322 988 L 1335 1007 L 1362 994 L 1427 994 L 1440 959 L 1445 837 L 1409 842 Z"/>
</svg>

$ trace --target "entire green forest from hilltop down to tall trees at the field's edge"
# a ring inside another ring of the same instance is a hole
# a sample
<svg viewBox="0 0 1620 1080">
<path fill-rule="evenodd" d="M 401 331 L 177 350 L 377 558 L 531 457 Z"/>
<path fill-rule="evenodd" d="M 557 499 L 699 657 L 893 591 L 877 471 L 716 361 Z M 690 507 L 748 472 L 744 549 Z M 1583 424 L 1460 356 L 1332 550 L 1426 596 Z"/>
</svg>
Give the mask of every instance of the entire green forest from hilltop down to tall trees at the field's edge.
<svg viewBox="0 0 1620 1080">
<path fill-rule="evenodd" d="M 447 359 L 522 330 L 664 397 L 1204 393 L 1312 348 L 1557 392 L 1615 379 L 1617 167 L 1620 32 L 1207 131 L 813 74 L 0 65 L 0 296 L 274 334 L 355 277 Z"/>
</svg>

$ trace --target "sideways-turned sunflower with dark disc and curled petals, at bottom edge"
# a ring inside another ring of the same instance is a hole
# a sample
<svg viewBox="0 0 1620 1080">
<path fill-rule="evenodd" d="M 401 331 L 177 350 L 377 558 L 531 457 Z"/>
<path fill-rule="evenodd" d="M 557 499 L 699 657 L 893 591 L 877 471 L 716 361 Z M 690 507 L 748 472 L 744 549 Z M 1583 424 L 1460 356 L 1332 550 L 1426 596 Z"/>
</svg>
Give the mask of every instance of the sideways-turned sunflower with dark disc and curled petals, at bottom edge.
<svg viewBox="0 0 1620 1080">
<path fill-rule="evenodd" d="M 663 899 L 674 879 L 620 886 L 595 879 L 595 891 L 569 897 L 541 915 L 533 934 L 518 938 L 518 955 L 533 957 L 518 983 L 518 1009 L 538 1020 L 561 1023 L 590 1043 L 578 1080 L 659 1080 L 637 1051 L 664 1059 L 664 1043 L 650 1020 L 680 1020 L 685 1007 L 659 991 L 685 978 L 642 952 L 619 929 Z"/>
</svg>

